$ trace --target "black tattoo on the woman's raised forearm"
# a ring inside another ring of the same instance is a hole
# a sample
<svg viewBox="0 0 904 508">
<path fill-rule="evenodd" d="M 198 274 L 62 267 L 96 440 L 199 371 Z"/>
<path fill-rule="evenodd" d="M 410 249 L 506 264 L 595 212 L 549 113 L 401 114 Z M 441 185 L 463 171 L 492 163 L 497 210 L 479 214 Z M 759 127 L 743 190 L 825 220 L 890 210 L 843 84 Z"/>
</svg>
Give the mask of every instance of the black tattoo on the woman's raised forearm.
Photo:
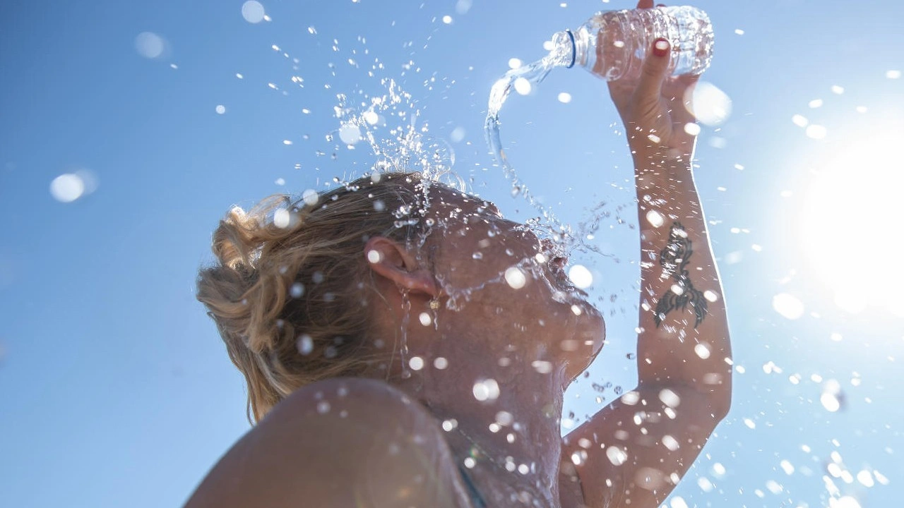
<svg viewBox="0 0 904 508">
<path fill-rule="evenodd" d="M 706 298 L 693 287 L 690 272 L 686 269 L 692 254 L 693 243 L 687 238 L 687 232 L 681 222 L 673 223 L 672 230 L 669 232 L 669 242 L 659 253 L 659 264 L 663 267 L 664 273 L 672 276 L 675 283 L 665 291 L 665 294 L 659 298 L 659 303 L 656 304 L 656 315 L 654 316 L 656 328 L 663 323 L 665 315 L 675 309 L 683 312 L 687 310 L 688 305 L 693 307 L 693 314 L 696 316 L 694 328 L 699 326 L 706 317 Z"/>
</svg>

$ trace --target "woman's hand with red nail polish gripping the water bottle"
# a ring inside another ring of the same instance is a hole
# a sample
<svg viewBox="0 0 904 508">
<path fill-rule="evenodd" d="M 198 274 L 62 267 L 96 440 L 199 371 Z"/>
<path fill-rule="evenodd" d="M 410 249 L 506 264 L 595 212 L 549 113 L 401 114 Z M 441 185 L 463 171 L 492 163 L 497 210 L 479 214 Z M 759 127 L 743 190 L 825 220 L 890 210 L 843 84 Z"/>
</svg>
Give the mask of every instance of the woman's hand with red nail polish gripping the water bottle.
<svg viewBox="0 0 904 508">
<path fill-rule="evenodd" d="M 653 0 L 640 0 L 637 8 L 652 9 Z M 663 42 L 665 51 L 660 56 L 654 50 Z M 697 138 L 684 126 L 696 122 L 687 105 L 700 77 L 668 76 L 670 54 L 668 41 L 659 39 L 647 52 L 640 80 L 609 81 L 609 95 L 625 124 L 628 146 L 635 158 L 669 155 L 690 161 L 693 157 Z"/>
</svg>

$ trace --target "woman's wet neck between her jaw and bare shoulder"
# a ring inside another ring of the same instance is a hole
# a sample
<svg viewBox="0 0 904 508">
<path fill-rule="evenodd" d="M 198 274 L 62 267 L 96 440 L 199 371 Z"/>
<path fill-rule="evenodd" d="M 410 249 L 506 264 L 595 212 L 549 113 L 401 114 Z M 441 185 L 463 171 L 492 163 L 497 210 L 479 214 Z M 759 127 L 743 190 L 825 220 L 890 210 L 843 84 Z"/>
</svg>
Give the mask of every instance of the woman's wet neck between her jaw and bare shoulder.
<svg viewBox="0 0 904 508">
<path fill-rule="evenodd" d="M 455 339 L 439 340 L 465 342 Z M 493 476 L 507 484 L 530 485 L 543 497 L 558 497 L 564 365 L 538 372 L 533 362 L 548 360 L 541 352 L 508 349 L 479 355 L 440 353 L 436 356 L 447 358 L 447 369 L 438 370 L 434 358 L 424 358 L 422 370 L 393 384 L 443 424 L 459 465 L 494 469 Z M 500 358 L 510 362 L 500 366 Z M 469 456 L 474 462 L 466 462 Z"/>
</svg>

